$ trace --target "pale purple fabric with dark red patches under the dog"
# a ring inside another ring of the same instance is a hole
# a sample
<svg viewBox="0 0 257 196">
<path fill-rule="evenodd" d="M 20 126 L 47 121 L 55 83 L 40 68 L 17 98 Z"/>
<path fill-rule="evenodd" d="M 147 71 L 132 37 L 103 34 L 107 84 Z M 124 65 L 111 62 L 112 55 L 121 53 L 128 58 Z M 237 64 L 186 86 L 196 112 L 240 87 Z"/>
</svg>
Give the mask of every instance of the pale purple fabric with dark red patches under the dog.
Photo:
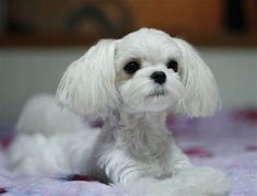
<svg viewBox="0 0 257 196">
<path fill-rule="evenodd" d="M 170 117 L 167 127 L 197 165 L 223 170 L 232 196 L 257 195 L 257 111 L 221 112 L 212 118 Z M 8 129 L 8 131 L 7 131 Z M 11 127 L 1 127 L 3 146 Z M 14 177 L 0 149 L 0 193 L 7 195 L 128 195 L 120 186 L 107 186 L 87 177 Z"/>
</svg>

